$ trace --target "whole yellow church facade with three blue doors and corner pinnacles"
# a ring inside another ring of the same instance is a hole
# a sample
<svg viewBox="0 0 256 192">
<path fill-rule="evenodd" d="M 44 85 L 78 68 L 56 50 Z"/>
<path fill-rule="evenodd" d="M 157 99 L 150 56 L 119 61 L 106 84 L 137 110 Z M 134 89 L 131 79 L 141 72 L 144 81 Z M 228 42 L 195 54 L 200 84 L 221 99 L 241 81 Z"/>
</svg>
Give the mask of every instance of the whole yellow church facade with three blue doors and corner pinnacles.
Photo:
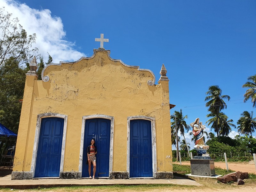
<svg viewBox="0 0 256 192">
<path fill-rule="evenodd" d="M 76 62 L 26 74 L 12 179 L 88 177 L 86 148 L 97 146 L 96 177 L 172 179 L 169 79 L 124 64 L 104 48 Z M 160 66 L 159 66 L 160 69 Z"/>
</svg>

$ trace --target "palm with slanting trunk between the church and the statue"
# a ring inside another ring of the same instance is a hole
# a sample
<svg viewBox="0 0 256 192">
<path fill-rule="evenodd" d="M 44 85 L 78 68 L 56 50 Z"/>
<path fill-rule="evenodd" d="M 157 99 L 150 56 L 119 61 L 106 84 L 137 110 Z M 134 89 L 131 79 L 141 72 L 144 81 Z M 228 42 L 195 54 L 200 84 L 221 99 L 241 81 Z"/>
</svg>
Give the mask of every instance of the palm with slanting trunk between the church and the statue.
<svg viewBox="0 0 256 192">
<path fill-rule="evenodd" d="M 180 131 L 180 133 L 183 135 L 185 143 L 187 144 L 187 141 L 186 141 L 185 136 L 184 136 L 184 133 L 185 133 L 184 129 L 186 129 L 187 132 L 189 130 L 189 125 L 185 121 L 185 119 L 188 118 L 188 115 L 183 116 L 182 110 L 180 109 L 180 112 L 179 111 L 174 111 L 173 115 L 171 116 L 171 119 L 175 120 L 175 117 L 176 117 L 177 131 Z M 188 146 L 188 145 L 186 145 L 186 146 Z M 188 149 L 188 147 L 187 147 L 187 149 Z M 188 150 L 188 154 L 189 154 L 189 150 Z M 189 156 L 190 156 L 190 154 L 189 154 Z"/>
</svg>

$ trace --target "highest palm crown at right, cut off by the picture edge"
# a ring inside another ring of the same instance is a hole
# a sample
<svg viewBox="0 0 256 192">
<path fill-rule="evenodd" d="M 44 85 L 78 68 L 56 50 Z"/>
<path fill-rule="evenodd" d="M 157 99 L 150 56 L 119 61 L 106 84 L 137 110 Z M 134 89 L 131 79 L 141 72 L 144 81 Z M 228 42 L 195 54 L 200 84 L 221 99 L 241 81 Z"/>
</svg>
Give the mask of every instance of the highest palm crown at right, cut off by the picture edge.
<svg viewBox="0 0 256 192">
<path fill-rule="evenodd" d="M 251 98 L 253 103 L 252 107 L 256 108 L 256 74 L 254 76 L 249 76 L 247 80 L 248 81 L 242 86 L 249 88 L 244 94 L 244 102 Z"/>
</svg>

